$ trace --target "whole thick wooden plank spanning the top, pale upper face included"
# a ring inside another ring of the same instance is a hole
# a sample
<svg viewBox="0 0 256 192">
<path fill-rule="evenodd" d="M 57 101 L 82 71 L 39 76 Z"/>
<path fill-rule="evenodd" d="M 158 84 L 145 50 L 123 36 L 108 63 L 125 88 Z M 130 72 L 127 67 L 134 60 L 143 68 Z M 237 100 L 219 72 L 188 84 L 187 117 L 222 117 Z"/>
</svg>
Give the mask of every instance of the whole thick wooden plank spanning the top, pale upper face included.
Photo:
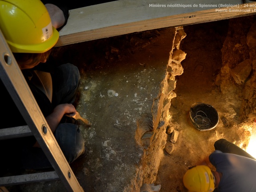
<svg viewBox="0 0 256 192">
<path fill-rule="evenodd" d="M 255 11 L 253 7 L 242 4 L 242 0 L 118 0 L 70 10 L 68 23 L 60 30 L 56 47 L 133 32 L 248 16 Z"/>
</svg>

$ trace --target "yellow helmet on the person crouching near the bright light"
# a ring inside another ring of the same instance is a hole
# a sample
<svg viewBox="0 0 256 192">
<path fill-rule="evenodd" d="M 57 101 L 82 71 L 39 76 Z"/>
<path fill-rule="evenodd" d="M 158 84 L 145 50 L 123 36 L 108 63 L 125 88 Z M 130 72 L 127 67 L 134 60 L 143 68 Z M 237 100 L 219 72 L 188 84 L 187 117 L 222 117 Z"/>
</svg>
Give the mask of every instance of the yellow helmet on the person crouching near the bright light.
<svg viewBox="0 0 256 192">
<path fill-rule="evenodd" d="M 184 186 L 190 192 L 212 192 L 214 177 L 206 165 L 198 165 L 188 169 L 183 177 Z"/>
</svg>

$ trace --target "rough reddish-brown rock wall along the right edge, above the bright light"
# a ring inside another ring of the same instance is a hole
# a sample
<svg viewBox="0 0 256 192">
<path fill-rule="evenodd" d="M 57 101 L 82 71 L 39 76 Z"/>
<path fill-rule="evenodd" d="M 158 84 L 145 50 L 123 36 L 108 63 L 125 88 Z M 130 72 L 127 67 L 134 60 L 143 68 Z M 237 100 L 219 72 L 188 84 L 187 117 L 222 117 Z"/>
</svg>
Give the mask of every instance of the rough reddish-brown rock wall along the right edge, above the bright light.
<svg viewBox="0 0 256 192">
<path fill-rule="evenodd" d="M 242 100 L 240 120 L 251 122 L 256 116 L 255 29 L 255 16 L 230 20 L 229 32 L 221 49 L 223 67 L 215 81 L 222 93 L 236 92 L 238 99 Z"/>
</svg>

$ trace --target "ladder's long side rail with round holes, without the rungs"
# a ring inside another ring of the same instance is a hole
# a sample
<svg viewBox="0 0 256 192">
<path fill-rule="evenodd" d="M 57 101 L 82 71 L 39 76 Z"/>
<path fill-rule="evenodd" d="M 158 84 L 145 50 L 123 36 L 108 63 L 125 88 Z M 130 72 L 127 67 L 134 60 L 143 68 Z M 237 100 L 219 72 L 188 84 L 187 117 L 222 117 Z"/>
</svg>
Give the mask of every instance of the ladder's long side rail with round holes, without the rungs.
<svg viewBox="0 0 256 192">
<path fill-rule="evenodd" d="M 0 31 L 0 78 L 68 191 L 83 192 Z"/>
</svg>

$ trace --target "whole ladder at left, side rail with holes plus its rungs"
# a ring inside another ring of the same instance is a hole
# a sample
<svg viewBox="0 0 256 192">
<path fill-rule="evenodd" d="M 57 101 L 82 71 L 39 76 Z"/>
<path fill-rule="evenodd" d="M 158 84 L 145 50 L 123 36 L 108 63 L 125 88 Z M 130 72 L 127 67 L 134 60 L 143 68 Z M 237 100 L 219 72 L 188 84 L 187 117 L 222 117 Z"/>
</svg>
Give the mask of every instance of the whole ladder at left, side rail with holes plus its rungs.
<svg viewBox="0 0 256 192">
<path fill-rule="evenodd" d="M 0 78 L 28 124 L 27 126 L 0 129 L 0 140 L 35 136 L 55 170 L 52 172 L 0 177 L 0 191 L 7 190 L 4 186 L 61 180 L 68 191 L 84 192 L 36 103 L 1 30 Z"/>
</svg>

